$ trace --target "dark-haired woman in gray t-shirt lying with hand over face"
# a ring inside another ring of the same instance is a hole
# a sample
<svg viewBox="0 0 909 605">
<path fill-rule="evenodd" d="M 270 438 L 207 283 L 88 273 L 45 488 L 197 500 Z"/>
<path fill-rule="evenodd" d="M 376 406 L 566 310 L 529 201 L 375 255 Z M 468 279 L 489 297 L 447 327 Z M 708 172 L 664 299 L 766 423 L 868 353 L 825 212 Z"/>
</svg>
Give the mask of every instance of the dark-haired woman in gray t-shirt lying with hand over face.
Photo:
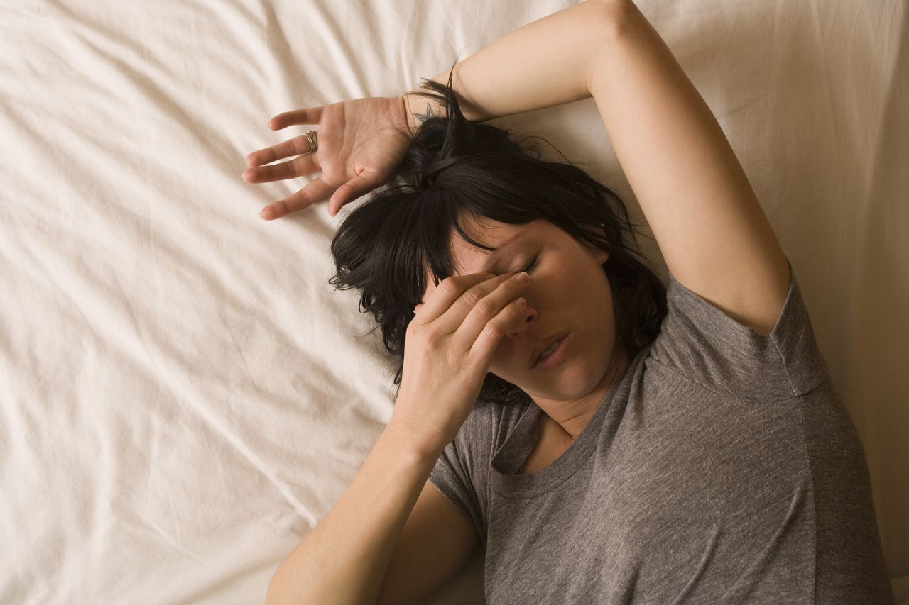
<svg viewBox="0 0 909 605">
<path fill-rule="evenodd" d="M 425 86 L 278 115 L 318 139 L 248 157 L 253 183 L 323 172 L 264 218 L 397 171 L 332 243 L 395 412 L 268 602 L 421 602 L 481 543 L 491 603 L 893 602 L 791 265 L 644 15 L 589 0 Z M 668 290 L 613 192 L 472 124 L 591 94 Z"/>
</svg>

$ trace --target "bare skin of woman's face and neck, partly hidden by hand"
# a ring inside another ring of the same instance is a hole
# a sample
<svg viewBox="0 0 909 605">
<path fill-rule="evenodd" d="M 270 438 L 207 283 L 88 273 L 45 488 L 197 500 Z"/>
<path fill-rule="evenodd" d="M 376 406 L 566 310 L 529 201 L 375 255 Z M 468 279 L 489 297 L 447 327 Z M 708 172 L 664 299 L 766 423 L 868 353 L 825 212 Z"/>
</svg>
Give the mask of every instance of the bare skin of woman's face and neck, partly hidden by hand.
<svg viewBox="0 0 909 605">
<path fill-rule="evenodd" d="M 515 235 L 520 239 L 491 256 L 453 233 L 449 250 L 456 275 L 524 271 L 539 254 L 522 293 L 525 312 L 496 348 L 490 372 L 520 387 L 543 410 L 541 430 L 565 443 L 574 441 L 629 363 L 620 348 L 607 372 L 615 343 L 612 289 L 602 267 L 609 253 L 578 243 L 544 220 L 513 225 L 471 214 L 462 215 L 461 224 L 485 245 L 498 247 Z M 426 283 L 424 301 L 436 288 L 431 278 Z M 552 370 L 531 368 L 531 356 L 544 339 L 565 330 L 574 334 L 564 362 Z"/>
</svg>

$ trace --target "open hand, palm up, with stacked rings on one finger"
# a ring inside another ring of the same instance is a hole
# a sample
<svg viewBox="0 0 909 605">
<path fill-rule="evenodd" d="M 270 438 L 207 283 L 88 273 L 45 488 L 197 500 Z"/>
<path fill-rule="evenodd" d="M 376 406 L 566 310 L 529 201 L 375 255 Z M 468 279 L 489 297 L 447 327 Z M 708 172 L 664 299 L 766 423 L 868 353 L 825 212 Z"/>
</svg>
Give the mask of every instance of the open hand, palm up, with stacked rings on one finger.
<svg viewBox="0 0 909 605">
<path fill-rule="evenodd" d="M 328 213 L 338 213 L 345 203 L 385 184 L 404 159 L 412 134 L 407 121 L 405 96 L 365 97 L 319 107 L 277 114 L 268 123 L 272 130 L 292 124 L 318 124 L 315 154 L 301 134 L 283 143 L 246 156 L 243 173 L 247 183 L 293 179 L 319 170 L 322 174 L 306 186 L 270 203 L 259 213 L 271 220 L 295 213 L 332 194 Z M 263 165 L 298 156 L 281 164 Z"/>
</svg>

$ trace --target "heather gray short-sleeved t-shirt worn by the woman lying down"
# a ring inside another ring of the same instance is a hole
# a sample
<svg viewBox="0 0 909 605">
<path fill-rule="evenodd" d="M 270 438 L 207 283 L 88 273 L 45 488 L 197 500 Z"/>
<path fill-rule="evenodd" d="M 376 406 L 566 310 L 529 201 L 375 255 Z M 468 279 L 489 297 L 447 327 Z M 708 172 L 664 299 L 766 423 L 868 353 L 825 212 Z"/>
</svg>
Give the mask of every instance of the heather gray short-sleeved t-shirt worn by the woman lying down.
<svg viewBox="0 0 909 605">
<path fill-rule="evenodd" d="M 791 269 L 791 264 L 790 264 Z M 761 335 L 675 281 L 662 332 L 549 466 L 534 403 L 475 409 L 429 479 L 488 603 L 893 603 L 867 462 L 793 274 Z"/>
</svg>

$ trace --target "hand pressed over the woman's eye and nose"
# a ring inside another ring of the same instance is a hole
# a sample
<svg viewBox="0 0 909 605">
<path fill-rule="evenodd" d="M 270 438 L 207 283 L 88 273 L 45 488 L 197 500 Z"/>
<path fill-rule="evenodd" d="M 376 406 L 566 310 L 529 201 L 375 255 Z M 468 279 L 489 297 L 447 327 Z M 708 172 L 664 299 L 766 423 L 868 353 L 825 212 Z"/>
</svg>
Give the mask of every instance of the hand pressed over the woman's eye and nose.
<svg viewBox="0 0 909 605">
<path fill-rule="evenodd" d="M 490 279 L 491 278 L 491 279 Z M 528 281 L 529 283 L 529 281 Z M 515 273 L 448 277 L 417 305 L 389 424 L 421 453 L 441 452 L 467 419 L 504 335 L 523 329 L 527 283 Z"/>
</svg>

